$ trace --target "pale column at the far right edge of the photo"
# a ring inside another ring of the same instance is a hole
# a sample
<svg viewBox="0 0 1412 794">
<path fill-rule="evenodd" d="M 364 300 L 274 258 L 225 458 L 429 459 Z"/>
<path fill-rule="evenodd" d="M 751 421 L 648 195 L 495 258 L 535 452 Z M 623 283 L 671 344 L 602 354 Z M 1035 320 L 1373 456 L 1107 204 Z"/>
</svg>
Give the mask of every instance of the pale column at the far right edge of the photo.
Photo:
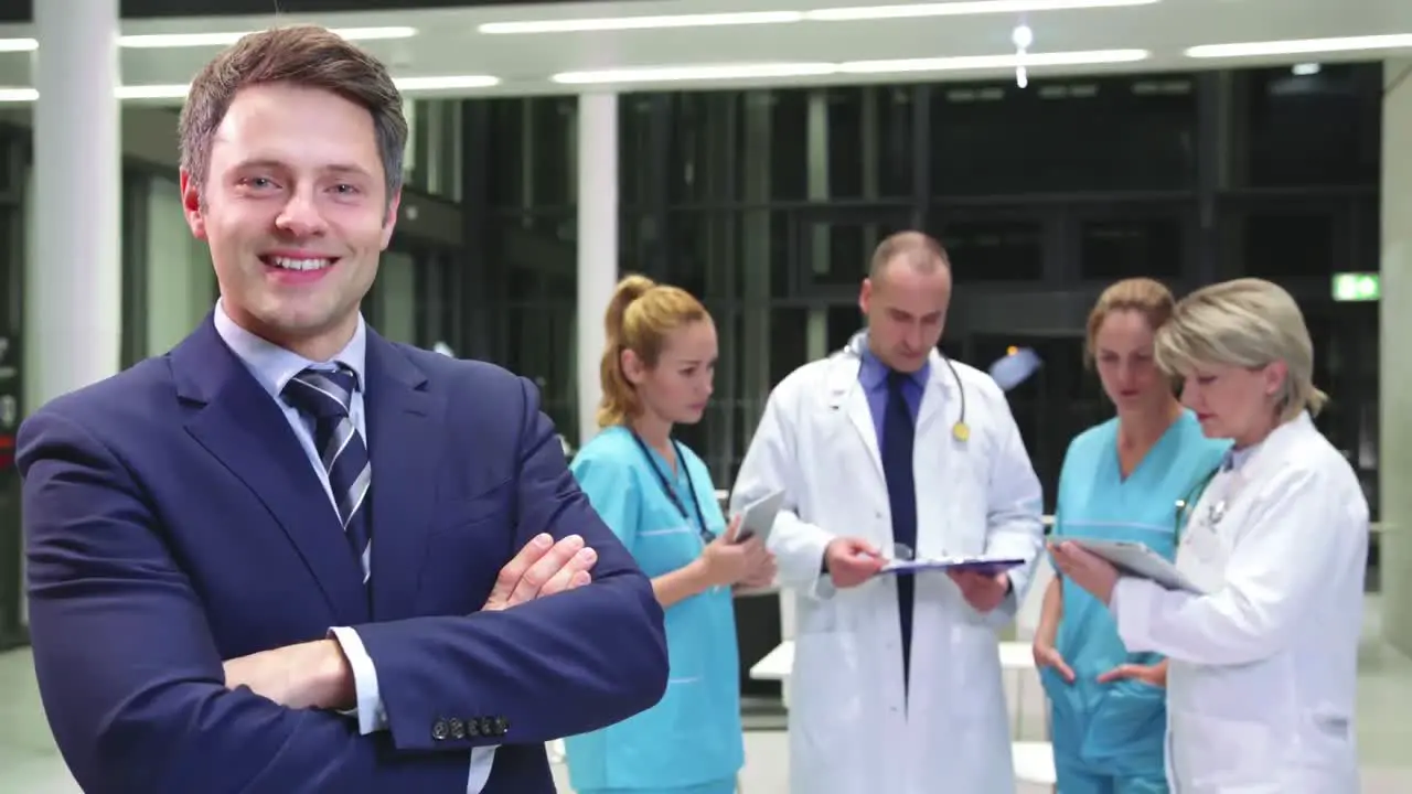
<svg viewBox="0 0 1412 794">
<path fill-rule="evenodd" d="M 1412 59 L 1384 65 L 1378 499 L 1382 633 L 1412 654 Z M 1334 394 L 1334 398 L 1339 396 Z"/>
</svg>

